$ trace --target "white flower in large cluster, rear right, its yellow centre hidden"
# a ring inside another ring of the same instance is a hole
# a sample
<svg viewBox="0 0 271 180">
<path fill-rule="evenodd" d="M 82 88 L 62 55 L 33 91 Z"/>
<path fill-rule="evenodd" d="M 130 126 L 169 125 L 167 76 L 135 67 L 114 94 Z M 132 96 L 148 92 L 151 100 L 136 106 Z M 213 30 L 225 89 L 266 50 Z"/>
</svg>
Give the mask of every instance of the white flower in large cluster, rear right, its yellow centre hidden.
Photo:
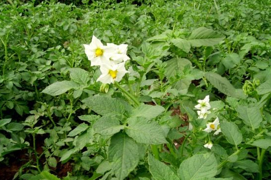
<svg viewBox="0 0 271 180">
<path fill-rule="evenodd" d="M 126 55 L 127 53 L 127 44 L 116 45 L 114 43 L 107 43 L 108 47 L 115 49 L 115 53 L 111 55 L 110 59 L 115 63 L 126 62 L 130 58 Z"/>
</svg>

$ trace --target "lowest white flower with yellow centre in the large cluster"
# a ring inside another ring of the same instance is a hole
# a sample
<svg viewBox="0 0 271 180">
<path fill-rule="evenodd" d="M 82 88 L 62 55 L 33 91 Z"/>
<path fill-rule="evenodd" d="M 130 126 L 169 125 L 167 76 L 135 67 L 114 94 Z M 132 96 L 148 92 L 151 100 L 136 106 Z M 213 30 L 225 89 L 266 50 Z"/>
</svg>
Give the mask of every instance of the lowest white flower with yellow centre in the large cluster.
<svg viewBox="0 0 271 180">
<path fill-rule="evenodd" d="M 114 83 L 115 81 L 119 82 L 125 73 L 128 72 L 125 70 L 124 65 L 125 63 L 120 63 L 117 65 L 102 64 L 100 67 L 102 75 L 100 75 L 97 81 L 101 81 L 104 84 Z"/>
</svg>

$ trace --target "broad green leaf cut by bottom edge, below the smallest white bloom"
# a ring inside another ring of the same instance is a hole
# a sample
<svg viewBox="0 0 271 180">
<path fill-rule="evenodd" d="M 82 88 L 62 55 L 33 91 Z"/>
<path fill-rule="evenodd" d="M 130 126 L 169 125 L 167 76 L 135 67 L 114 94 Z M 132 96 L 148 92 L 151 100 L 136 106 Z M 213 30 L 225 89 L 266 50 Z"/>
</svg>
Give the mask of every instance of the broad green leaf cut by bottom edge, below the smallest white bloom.
<svg viewBox="0 0 271 180">
<path fill-rule="evenodd" d="M 217 162 L 214 154 L 195 154 L 184 160 L 178 175 L 181 180 L 199 180 L 200 178 L 212 178 L 217 173 Z"/>
</svg>

